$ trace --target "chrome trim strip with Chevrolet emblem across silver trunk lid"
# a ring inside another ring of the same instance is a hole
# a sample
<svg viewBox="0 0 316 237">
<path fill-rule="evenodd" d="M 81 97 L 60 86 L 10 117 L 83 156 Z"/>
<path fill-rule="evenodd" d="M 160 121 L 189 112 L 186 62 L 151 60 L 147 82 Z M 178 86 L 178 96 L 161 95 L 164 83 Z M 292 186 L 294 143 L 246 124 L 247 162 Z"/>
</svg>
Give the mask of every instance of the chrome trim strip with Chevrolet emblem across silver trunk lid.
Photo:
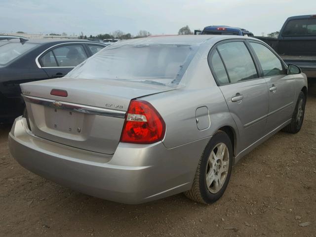
<svg viewBox="0 0 316 237">
<path fill-rule="evenodd" d="M 79 105 L 79 104 L 73 104 L 69 102 L 43 99 L 43 98 L 28 96 L 28 95 L 23 95 L 23 94 L 22 94 L 22 97 L 24 98 L 25 101 L 30 102 L 30 103 L 48 106 L 54 109 L 74 111 L 74 112 L 88 114 L 88 115 L 100 115 L 100 116 L 113 117 L 113 118 L 125 118 L 125 113 L 126 113 L 125 111 L 110 110 L 110 109 L 104 109 L 104 108 L 93 107 L 93 106 L 88 106 L 88 105 Z M 55 107 L 54 106 L 55 102 L 60 102 L 62 105 L 60 107 Z"/>
</svg>

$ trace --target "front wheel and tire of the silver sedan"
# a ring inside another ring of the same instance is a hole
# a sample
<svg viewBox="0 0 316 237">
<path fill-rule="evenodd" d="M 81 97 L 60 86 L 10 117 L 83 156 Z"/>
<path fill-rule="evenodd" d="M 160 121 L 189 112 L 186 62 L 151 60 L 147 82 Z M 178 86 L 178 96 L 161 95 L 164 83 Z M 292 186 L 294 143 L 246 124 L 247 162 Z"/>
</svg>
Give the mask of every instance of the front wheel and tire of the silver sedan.
<svg viewBox="0 0 316 237">
<path fill-rule="evenodd" d="M 291 123 L 286 125 L 282 131 L 288 133 L 297 133 L 301 130 L 305 114 L 306 99 L 303 91 L 300 92 L 297 98 L 296 106 L 292 115 Z"/>
</svg>

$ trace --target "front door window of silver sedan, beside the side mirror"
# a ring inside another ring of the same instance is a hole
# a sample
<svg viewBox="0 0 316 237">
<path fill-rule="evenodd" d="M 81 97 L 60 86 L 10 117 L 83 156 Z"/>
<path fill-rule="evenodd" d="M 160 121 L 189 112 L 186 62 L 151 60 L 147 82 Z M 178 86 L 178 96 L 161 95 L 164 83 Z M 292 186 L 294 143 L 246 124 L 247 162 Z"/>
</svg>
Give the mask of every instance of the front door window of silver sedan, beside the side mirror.
<svg viewBox="0 0 316 237">
<path fill-rule="evenodd" d="M 261 43 L 249 43 L 259 59 L 264 77 L 273 77 L 284 74 L 281 61 L 269 48 Z"/>
</svg>

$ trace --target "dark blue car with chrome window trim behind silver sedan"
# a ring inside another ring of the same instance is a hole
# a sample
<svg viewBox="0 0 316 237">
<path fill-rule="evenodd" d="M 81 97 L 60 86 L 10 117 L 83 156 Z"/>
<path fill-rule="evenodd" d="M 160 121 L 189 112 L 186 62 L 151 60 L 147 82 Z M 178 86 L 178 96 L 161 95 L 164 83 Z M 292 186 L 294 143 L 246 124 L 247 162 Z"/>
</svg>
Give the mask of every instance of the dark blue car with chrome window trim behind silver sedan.
<svg viewBox="0 0 316 237">
<path fill-rule="evenodd" d="M 0 123 L 22 115 L 21 83 L 61 78 L 105 46 L 88 40 L 0 40 Z"/>
</svg>

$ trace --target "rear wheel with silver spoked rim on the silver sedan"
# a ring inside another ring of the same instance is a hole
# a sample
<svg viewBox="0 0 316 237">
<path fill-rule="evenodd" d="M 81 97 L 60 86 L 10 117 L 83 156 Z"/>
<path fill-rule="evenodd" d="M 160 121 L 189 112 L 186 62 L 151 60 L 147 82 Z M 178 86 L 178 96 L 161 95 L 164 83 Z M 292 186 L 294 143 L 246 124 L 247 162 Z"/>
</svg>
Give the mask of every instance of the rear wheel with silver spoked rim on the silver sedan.
<svg viewBox="0 0 316 237">
<path fill-rule="evenodd" d="M 220 151 L 224 151 L 222 160 L 218 159 L 221 157 Z M 184 194 L 200 203 L 215 202 L 222 197 L 227 188 L 232 166 L 233 147 L 231 140 L 225 132 L 217 131 L 199 159 L 191 190 Z M 207 177 L 208 181 L 206 180 Z M 220 179 L 218 179 L 219 177 Z"/>
</svg>

